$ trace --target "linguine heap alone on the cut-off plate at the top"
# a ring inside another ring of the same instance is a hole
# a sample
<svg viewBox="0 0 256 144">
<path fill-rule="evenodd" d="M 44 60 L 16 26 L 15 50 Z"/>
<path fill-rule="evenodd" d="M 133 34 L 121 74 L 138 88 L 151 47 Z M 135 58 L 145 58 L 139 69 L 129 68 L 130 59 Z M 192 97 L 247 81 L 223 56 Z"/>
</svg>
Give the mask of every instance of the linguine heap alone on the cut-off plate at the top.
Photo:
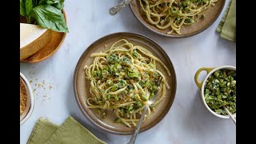
<svg viewBox="0 0 256 144">
<path fill-rule="evenodd" d="M 181 34 L 183 25 L 196 22 L 198 14 L 218 0 L 138 0 L 150 24 L 158 29 L 170 28 L 167 34 Z M 196 17 L 196 18 L 195 18 Z M 202 14 L 201 18 L 204 18 Z"/>
</svg>

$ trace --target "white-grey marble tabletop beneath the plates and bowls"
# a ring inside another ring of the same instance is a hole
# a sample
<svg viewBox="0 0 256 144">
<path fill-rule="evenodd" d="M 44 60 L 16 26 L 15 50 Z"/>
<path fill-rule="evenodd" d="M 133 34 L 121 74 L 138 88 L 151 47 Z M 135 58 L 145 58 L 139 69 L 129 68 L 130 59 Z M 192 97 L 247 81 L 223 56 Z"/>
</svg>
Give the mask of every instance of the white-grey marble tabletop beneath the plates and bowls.
<svg viewBox="0 0 256 144">
<path fill-rule="evenodd" d="M 218 20 L 201 34 L 172 39 L 147 30 L 134 18 L 129 7 L 114 17 L 110 16 L 109 8 L 117 3 L 117 0 L 66 0 L 70 33 L 61 48 L 44 62 L 20 64 L 20 71 L 32 80 L 31 86 L 36 89 L 34 112 L 20 126 L 20 143 L 26 143 L 39 117 L 50 118 L 51 122 L 60 125 L 68 115 L 105 142 L 128 142 L 130 136 L 107 134 L 93 126 L 79 110 L 73 92 L 74 68 L 86 47 L 106 34 L 125 31 L 144 34 L 158 42 L 173 62 L 178 82 L 169 113 L 158 125 L 139 134 L 136 143 L 236 143 L 234 123 L 210 114 L 200 102 L 198 87 L 194 83 L 194 74 L 202 66 L 236 66 L 235 43 L 220 38 L 215 31 L 224 10 Z M 43 87 L 35 86 L 43 81 Z"/>
</svg>

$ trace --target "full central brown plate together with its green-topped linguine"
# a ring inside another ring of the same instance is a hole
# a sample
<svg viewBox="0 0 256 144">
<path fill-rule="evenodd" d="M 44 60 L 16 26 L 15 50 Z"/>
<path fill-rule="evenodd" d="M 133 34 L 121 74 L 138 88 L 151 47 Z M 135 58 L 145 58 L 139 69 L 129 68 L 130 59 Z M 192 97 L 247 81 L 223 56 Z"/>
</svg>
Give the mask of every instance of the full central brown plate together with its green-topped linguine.
<svg viewBox="0 0 256 144">
<path fill-rule="evenodd" d="M 132 134 L 150 105 L 140 132 L 165 117 L 174 102 L 176 75 L 164 50 L 150 38 L 133 33 L 106 35 L 78 60 L 74 94 L 82 113 L 112 134 Z"/>
</svg>

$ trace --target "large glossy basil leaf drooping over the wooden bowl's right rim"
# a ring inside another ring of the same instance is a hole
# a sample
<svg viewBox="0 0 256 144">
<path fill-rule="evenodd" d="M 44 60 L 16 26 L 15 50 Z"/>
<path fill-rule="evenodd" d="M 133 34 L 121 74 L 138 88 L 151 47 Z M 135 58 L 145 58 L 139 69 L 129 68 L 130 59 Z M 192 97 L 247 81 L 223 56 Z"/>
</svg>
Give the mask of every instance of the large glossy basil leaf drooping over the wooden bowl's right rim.
<svg viewBox="0 0 256 144">
<path fill-rule="evenodd" d="M 58 32 L 69 32 L 62 10 L 58 10 L 54 6 L 36 6 L 33 8 L 32 17 L 43 28 Z"/>
</svg>

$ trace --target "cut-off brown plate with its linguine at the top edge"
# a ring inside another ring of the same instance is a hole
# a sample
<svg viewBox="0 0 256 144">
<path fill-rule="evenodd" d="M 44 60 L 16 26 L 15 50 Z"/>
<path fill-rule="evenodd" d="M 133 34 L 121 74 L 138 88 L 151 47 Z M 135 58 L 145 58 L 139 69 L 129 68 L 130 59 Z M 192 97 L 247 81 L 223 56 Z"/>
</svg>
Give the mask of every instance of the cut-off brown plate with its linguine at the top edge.
<svg viewBox="0 0 256 144">
<path fill-rule="evenodd" d="M 186 38 L 211 26 L 226 0 L 134 0 L 130 9 L 148 29 L 170 38 Z"/>
</svg>

